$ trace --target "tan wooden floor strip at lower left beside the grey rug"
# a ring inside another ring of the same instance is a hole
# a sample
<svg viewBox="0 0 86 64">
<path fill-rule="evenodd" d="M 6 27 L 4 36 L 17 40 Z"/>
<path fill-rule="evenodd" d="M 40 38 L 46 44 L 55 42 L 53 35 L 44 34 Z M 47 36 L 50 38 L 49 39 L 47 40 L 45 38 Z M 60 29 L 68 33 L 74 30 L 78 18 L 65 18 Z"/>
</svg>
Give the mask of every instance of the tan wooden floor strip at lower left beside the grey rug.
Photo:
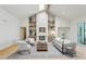
<svg viewBox="0 0 86 64">
<path fill-rule="evenodd" d="M 17 44 L 12 44 L 3 50 L 0 50 L 0 59 L 7 59 L 9 57 L 11 54 L 13 54 L 14 52 L 16 52 L 19 50 Z"/>
</svg>

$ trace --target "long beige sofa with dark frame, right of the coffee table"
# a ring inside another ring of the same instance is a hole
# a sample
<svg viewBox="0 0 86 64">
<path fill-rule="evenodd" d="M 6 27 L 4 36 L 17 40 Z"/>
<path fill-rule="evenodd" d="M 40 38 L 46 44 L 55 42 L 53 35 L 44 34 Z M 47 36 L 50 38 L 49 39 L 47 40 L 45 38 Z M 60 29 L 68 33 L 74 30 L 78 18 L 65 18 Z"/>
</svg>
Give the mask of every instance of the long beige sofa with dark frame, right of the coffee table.
<svg viewBox="0 0 86 64">
<path fill-rule="evenodd" d="M 67 39 L 54 38 L 52 44 L 63 54 L 70 54 L 72 56 L 76 54 L 76 43 Z"/>
</svg>

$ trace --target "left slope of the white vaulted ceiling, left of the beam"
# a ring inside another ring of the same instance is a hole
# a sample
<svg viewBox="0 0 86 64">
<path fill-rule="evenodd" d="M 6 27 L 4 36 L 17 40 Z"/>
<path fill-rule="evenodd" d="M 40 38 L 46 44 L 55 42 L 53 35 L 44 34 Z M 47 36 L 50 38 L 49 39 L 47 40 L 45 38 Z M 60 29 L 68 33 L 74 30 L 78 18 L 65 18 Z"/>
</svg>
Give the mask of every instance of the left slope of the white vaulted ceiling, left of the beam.
<svg viewBox="0 0 86 64">
<path fill-rule="evenodd" d="M 38 11 L 38 4 L 1 4 L 0 8 L 15 15 L 20 20 L 25 20 Z"/>
</svg>

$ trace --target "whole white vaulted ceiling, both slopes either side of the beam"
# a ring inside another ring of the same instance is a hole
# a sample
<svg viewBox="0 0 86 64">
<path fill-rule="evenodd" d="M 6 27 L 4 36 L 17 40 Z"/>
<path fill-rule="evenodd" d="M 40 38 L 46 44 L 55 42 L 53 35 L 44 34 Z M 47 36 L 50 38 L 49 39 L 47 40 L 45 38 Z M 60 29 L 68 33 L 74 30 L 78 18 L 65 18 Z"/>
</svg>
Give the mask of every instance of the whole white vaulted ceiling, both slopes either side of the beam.
<svg viewBox="0 0 86 64">
<path fill-rule="evenodd" d="M 20 20 L 39 11 L 38 4 L 1 4 L 0 8 L 15 15 Z M 86 4 L 52 4 L 51 13 L 65 20 L 86 16 Z"/>
</svg>

